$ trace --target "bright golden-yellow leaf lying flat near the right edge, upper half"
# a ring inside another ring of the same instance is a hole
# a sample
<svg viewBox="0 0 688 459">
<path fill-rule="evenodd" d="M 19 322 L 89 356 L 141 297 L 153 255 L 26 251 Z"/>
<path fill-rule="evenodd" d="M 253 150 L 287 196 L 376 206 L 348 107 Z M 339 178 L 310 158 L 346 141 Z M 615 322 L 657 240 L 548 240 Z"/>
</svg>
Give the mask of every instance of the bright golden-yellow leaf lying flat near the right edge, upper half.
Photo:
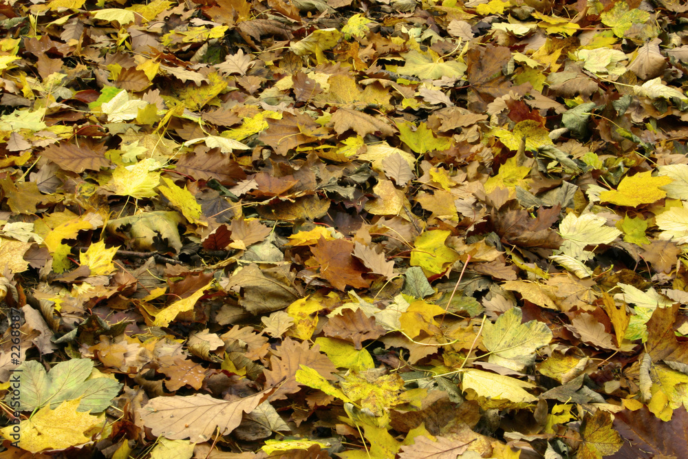
<svg viewBox="0 0 688 459">
<path fill-rule="evenodd" d="M 600 200 L 629 207 L 652 204 L 667 196 L 667 192 L 660 189 L 660 186 L 668 185 L 673 181 L 666 175 L 652 177 L 652 171 L 636 173 L 632 177 L 624 177 L 616 190 L 600 193 Z"/>
</svg>

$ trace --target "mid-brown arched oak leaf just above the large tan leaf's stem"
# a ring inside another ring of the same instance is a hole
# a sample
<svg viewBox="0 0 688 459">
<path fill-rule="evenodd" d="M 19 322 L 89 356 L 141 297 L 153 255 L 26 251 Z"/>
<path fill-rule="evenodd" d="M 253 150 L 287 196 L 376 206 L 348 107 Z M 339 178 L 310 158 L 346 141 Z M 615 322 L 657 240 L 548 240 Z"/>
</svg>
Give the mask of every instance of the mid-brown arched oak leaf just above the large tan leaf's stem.
<svg viewBox="0 0 688 459">
<path fill-rule="evenodd" d="M 270 387 L 278 386 L 270 399 L 280 400 L 287 398 L 288 394 L 299 392 L 301 387 L 296 380 L 297 370 L 300 369 L 299 365 L 312 368 L 323 378 L 333 380 L 337 369 L 332 361 L 319 351 L 319 345 L 316 344 L 312 349 L 309 349 L 306 341 L 299 343 L 299 341 L 290 338 L 282 341 L 279 348 L 273 352 L 275 355 L 270 357 L 270 370 L 265 372 L 266 384 Z"/>
</svg>

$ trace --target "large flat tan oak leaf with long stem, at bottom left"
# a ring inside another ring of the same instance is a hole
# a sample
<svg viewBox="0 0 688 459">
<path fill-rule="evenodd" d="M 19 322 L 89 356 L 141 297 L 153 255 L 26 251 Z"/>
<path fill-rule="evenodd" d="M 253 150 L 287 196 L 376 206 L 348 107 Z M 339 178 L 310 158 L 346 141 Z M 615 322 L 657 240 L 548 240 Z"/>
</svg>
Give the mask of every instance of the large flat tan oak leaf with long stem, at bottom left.
<svg viewBox="0 0 688 459">
<path fill-rule="evenodd" d="M 220 435 L 236 429 L 243 414 L 252 412 L 270 392 L 272 388 L 232 401 L 207 394 L 155 397 L 143 407 L 141 418 L 155 436 L 206 442 L 212 438 L 215 429 Z"/>
</svg>

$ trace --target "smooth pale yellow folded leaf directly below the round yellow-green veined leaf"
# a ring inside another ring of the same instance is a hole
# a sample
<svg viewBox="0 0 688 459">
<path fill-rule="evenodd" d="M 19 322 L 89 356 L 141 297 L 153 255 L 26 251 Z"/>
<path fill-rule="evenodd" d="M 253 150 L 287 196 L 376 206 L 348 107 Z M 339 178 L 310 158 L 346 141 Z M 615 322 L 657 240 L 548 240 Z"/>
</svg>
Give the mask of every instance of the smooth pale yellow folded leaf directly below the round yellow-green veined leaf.
<svg viewBox="0 0 688 459">
<path fill-rule="evenodd" d="M 470 368 L 463 374 L 462 389 L 473 389 L 478 396 L 495 400 L 508 400 L 514 403 L 534 402 L 537 397 L 525 391 L 535 385 L 510 376 L 484 372 Z"/>
</svg>

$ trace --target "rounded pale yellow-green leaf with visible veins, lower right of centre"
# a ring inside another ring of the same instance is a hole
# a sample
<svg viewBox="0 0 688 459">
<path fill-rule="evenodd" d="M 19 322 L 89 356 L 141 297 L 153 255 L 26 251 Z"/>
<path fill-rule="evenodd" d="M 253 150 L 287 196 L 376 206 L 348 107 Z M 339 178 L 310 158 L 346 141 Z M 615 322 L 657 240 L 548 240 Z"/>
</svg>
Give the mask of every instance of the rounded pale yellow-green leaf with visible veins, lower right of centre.
<svg viewBox="0 0 688 459">
<path fill-rule="evenodd" d="M 523 312 L 511 308 L 495 323 L 484 325 L 482 343 L 492 352 L 489 361 L 522 371 L 535 362 L 535 351 L 552 340 L 552 332 L 545 323 L 535 320 L 521 323 Z"/>
</svg>

